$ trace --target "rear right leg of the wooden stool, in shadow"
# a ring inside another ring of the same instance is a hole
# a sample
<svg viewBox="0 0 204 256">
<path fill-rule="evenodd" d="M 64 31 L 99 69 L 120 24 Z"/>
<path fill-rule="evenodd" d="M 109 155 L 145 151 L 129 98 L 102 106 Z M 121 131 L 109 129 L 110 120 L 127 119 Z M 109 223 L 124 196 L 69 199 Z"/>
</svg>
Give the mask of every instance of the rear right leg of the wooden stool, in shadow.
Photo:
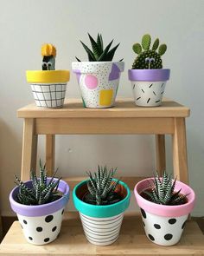
<svg viewBox="0 0 204 256">
<path fill-rule="evenodd" d="M 156 135 L 156 170 L 160 176 L 166 169 L 165 135 Z"/>
</svg>

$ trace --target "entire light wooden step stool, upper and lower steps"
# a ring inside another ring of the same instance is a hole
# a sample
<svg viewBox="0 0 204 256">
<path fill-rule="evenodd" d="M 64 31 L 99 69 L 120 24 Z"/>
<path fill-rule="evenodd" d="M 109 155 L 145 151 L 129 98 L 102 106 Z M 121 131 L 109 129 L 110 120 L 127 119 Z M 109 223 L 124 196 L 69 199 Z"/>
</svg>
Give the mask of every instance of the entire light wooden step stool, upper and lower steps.
<svg viewBox="0 0 204 256">
<path fill-rule="evenodd" d="M 174 174 L 188 183 L 185 117 L 189 109 L 165 100 L 159 108 L 139 108 L 128 99 L 115 108 L 82 108 L 77 100 L 68 100 L 61 109 L 40 109 L 34 104 L 21 108 L 24 118 L 22 141 L 22 180 L 29 180 L 29 171 L 36 167 L 37 135 L 46 135 L 46 162 L 54 170 L 54 135 L 155 135 L 156 166 L 165 169 L 165 135 L 173 139 Z M 82 177 L 66 179 L 71 189 Z M 122 177 L 131 190 L 143 177 Z M 67 213 L 57 240 L 46 246 L 30 245 L 15 221 L 0 245 L 3 255 L 204 255 L 204 236 L 194 221 L 188 221 L 182 240 L 176 246 L 156 246 L 143 231 L 136 213 L 125 213 L 117 242 L 112 246 L 93 246 L 83 233 L 78 213 Z"/>
</svg>

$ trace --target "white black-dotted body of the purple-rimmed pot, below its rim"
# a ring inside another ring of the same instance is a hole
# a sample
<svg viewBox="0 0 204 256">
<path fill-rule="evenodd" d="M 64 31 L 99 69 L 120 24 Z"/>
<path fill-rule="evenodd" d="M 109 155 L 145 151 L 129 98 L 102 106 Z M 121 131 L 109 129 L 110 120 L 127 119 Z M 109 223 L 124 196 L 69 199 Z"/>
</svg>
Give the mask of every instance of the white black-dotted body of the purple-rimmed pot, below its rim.
<svg viewBox="0 0 204 256">
<path fill-rule="evenodd" d="M 19 214 L 17 216 L 29 243 L 44 245 L 55 240 L 60 233 L 63 213 L 64 209 L 44 216 L 27 217 Z"/>
</svg>

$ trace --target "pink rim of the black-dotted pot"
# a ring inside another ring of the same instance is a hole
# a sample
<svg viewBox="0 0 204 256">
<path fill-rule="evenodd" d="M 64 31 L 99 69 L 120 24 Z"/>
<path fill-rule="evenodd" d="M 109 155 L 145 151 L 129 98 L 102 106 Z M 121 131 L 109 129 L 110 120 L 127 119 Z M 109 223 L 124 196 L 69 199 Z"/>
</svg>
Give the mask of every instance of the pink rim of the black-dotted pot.
<svg viewBox="0 0 204 256">
<path fill-rule="evenodd" d="M 188 194 L 188 202 L 186 204 L 180 206 L 163 206 L 150 202 L 149 200 L 145 200 L 140 195 L 140 193 L 147 187 L 150 187 L 150 181 L 152 180 L 153 178 L 148 178 L 143 181 L 139 181 L 134 188 L 137 205 L 140 208 L 142 208 L 144 211 L 147 211 L 148 213 L 163 217 L 180 217 L 183 215 L 188 215 L 192 212 L 195 204 L 194 190 L 182 181 L 176 181 L 175 191 L 178 191 L 180 188 L 182 188 L 181 193 Z"/>
</svg>

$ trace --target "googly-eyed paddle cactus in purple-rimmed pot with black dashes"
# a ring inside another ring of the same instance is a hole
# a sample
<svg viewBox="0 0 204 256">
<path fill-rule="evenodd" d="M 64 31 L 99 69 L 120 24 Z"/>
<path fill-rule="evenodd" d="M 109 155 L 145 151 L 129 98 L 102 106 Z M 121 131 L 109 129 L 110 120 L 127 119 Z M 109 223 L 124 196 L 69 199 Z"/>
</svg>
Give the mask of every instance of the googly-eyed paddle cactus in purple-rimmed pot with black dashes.
<svg viewBox="0 0 204 256">
<path fill-rule="evenodd" d="M 141 107 L 156 107 L 162 104 L 165 85 L 170 75 L 170 69 L 163 69 L 161 58 L 166 52 L 166 44 L 159 46 L 159 39 L 156 38 L 150 49 L 150 43 L 151 36 L 146 34 L 142 38 L 142 46 L 140 43 L 133 45 L 137 57 L 132 69 L 128 70 L 135 103 Z"/>
</svg>

